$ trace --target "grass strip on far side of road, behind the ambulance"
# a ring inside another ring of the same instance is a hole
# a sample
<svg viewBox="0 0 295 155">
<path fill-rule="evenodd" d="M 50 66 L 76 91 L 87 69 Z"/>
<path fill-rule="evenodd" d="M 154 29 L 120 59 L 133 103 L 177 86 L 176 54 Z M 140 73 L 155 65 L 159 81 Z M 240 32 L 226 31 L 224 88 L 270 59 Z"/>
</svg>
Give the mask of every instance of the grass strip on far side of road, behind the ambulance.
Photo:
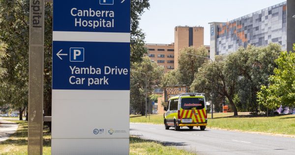
<svg viewBox="0 0 295 155">
<path fill-rule="evenodd" d="M 280 115 L 272 117 L 253 117 L 249 113 L 239 113 L 234 117 L 233 113 L 213 114 L 210 119 L 208 114 L 209 128 L 239 130 L 248 132 L 264 132 L 271 134 L 286 134 L 295 136 L 295 115 Z M 152 115 L 150 120 L 145 116 L 130 116 L 133 123 L 163 124 L 163 115 Z"/>
</svg>

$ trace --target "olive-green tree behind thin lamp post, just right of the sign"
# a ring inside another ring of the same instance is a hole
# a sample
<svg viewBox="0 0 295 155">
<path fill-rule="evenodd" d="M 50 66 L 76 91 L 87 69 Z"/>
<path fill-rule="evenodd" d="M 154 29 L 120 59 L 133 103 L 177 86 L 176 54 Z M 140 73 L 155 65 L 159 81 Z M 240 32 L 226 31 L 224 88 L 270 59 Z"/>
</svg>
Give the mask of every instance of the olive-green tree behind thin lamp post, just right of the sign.
<svg viewBox="0 0 295 155">
<path fill-rule="evenodd" d="M 146 78 L 147 95 L 149 96 L 153 87 L 159 85 L 163 72 L 164 68 L 151 62 L 147 56 L 143 58 L 143 62 L 135 62 L 131 65 L 130 105 L 140 110 L 142 115 L 145 115 L 146 108 Z"/>
</svg>

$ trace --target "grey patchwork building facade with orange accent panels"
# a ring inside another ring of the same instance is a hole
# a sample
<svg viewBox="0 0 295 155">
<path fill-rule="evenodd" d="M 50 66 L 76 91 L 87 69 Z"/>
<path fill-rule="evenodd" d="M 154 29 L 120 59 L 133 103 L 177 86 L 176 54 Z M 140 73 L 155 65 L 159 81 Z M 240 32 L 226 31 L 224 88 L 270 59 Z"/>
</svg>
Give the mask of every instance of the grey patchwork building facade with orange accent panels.
<svg viewBox="0 0 295 155">
<path fill-rule="evenodd" d="M 291 51 L 295 43 L 295 0 L 270 6 L 229 22 L 210 24 L 210 58 L 235 52 L 248 44 L 278 43 Z"/>
</svg>

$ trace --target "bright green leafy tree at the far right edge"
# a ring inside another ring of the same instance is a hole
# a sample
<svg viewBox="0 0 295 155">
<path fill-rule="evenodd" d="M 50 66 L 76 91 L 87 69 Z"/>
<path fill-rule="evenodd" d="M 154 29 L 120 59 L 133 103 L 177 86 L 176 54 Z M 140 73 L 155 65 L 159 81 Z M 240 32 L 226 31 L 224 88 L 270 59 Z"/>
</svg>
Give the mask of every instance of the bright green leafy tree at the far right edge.
<svg viewBox="0 0 295 155">
<path fill-rule="evenodd" d="M 295 53 L 281 52 L 275 63 L 274 75 L 268 78 L 269 86 L 262 86 L 258 102 L 270 108 L 295 107 Z"/>
</svg>

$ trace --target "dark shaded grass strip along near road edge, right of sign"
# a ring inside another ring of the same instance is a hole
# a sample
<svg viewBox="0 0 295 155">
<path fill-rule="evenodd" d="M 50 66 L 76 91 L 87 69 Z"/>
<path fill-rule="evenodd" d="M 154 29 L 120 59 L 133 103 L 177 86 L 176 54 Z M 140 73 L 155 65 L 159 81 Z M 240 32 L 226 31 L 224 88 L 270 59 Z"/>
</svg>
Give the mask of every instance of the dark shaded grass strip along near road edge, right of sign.
<svg viewBox="0 0 295 155">
<path fill-rule="evenodd" d="M 153 141 L 153 140 L 146 140 L 146 139 L 141 139 L 138 136 L 130 136 L 129 138 L 130 144 L 136 144 L 136 143 L 158 143 L 161 144 L 162 146 L 186 146 L 185 143 L 175 143 L 175 142 L 166 142 L 166 141 Z"/>
</svg>

